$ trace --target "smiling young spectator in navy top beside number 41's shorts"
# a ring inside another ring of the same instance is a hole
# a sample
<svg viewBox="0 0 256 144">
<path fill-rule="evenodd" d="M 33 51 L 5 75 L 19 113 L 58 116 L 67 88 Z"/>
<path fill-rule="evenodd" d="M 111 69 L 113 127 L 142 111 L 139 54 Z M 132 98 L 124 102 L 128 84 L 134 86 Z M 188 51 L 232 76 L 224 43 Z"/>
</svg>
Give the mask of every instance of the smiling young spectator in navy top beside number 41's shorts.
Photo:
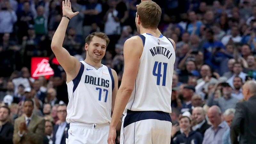
<svg viewBox="0 0 256 144">
<path fill-rule="evenodd" d="M 191 130 L 191 120 L 188 116 L 180 117 L 179 122 L 183 133 L 173 139 L 173 144 L 202 144 L 203 136 L 200 132 Z"/>
</svg>

